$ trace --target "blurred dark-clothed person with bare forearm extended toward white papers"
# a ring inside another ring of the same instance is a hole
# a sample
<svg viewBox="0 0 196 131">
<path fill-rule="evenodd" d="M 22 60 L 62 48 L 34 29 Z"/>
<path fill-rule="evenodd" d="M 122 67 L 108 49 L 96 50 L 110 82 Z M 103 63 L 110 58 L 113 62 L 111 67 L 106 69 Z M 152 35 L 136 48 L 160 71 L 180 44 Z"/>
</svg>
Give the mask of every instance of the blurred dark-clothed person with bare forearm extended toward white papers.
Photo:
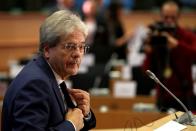
<svg viewBox="0 0 196 131">
<path fill-rule="evenodd" d="M 123 13 L 120 1 L 113 1 L 108 7 L 107 22 L 110 34 L 110 44 L 113 47 L 113 53 L 117 54 L 117 59 L 127 61 L 127 42 L 130 38 L 125 35 L 121 15 Z"/>
</svg>

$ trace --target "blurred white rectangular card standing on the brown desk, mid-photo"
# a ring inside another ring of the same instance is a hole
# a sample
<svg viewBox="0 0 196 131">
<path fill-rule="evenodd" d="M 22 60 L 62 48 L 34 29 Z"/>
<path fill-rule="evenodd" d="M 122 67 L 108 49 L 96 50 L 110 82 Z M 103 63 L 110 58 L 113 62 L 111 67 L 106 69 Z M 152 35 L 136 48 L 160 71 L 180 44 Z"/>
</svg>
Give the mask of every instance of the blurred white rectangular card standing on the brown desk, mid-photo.
<svg viewBox="0 0 196 131">
<path fill-rule="evenodd" d="M 114 97 L 135 97 L 136 82 L 135 81 L 116 81 L 114 83 Z"/>
</svg>

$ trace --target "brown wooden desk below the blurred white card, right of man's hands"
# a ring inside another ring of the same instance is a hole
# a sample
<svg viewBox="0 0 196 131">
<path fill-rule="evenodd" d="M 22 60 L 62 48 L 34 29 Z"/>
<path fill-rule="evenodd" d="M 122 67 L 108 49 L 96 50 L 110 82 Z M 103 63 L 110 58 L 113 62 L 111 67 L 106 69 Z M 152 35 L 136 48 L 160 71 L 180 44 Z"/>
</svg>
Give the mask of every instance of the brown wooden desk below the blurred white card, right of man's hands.
<svg viewBox="0 0 196 131">
<path fill-rule="evenodd" d="M 136 103 L 154 104 L 155 97 L 136 96 L 134 98 L 114 98 L 112 96 L 92 96 L 91 107 L 97 118 L 96 129 L 141 127 L 152 121 L 166 116 L 159 112 L 136 112 L 133 105 Z M 107 107 L 108 111 L 100 112 L 102 106 Z"/>
</svg>

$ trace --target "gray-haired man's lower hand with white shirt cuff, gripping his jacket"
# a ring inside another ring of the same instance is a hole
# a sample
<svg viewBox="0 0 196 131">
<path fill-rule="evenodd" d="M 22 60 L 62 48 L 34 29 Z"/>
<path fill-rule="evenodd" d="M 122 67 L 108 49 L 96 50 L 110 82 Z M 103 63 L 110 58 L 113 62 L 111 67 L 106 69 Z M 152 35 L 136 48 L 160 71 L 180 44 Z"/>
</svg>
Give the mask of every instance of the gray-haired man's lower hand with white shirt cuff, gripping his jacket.
<svg viewBox="0 0 196 131">
<path fill-rule="evenodd" d="M 83 118 L 84 115 L 79 108 L 69 109 L 68 113 L 66 114 L 66 120 L 71 121 L 77 131 L 84 127 Z"/>
</svg>

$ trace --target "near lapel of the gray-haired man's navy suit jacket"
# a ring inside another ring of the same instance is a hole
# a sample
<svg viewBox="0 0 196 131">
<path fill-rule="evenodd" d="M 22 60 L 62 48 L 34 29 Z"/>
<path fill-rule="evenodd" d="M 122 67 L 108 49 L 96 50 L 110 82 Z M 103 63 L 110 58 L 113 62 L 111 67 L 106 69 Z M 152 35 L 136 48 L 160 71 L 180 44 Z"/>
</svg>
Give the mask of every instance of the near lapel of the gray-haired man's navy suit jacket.
<svg viewBox="0 0 196 131">
<path fill-rule="evenodd" d="M 54 91 L 54 94 L 56 96 L 57 102 L 59 104 L 59 107 L 61 109 L 61 112 L 63 115 L 65 115 L 65 106 L 64 106 L 64 102 L 60 93 L 60 89 L 58 87 L 57 81 L 55 79 L 55 76 L 50 68 L 50 66 L 48 65 L 48 63 L 46 62 L 46 60 L 44 59 L 43 56 L 38 56 L 37 57 L 37 63 L 39 66 L 41 66 L 41 69 L 44 70 L 44 72 L 47 74 L 50 82 L 51 82 L 51 87 L 52 90 Z"/>
</svg>

